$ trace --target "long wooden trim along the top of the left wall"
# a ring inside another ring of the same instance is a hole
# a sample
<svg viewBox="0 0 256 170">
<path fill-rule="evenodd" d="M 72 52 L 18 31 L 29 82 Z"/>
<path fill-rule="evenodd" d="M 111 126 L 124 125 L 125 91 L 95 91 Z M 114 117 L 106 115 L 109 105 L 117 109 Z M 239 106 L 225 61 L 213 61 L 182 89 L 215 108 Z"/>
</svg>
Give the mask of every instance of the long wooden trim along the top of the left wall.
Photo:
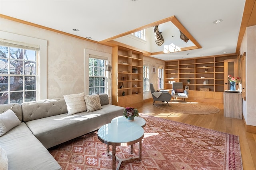
<svg viewBox="0 0 256 170">
<path fill-rule="evenodd" d="M 75 38 L 78 38 L 78 39 L 82 39 L 82 40 L 86 40 L 86 41 L 91 41 L 93 43 L 98 43 L 98 41 L 94 41 L 94 40 L 91 40 L 91 39 L 87 39 L 87 38 L 80 37 L 80 36 L 77 36 L 77 35 L 73 35 L 73 34 L 70 34 L 70 33 L 66 33 L 66 32 L 63 32 L 63 31 L 59 31 L 57 29 L 52 29 L 52 28 L 49 28 L 49 27 L 38 25 L 36 23 L 20 20 L 20 19 L 17 19 L 17 18 L 13 18 L 13 17 L 10 17 L 10 16 L 3 15 L 3 14 L 0 14 L 0 18 L 4 18 L 4 19 L 7 19 L 7 20 L 11 20 L 11 21 L 16 21 L 16 22 L 19 22 L 19 23 L 24 23 L 26 25 L 30 25 L 30 26 L 33 26 L 33 27 L 38 27 L 38 28 L 46 29 L 46 30 L 49 30 L 49 31 L 53 31 L 53 32 L 56 32 L 56 33 L 68 35 L 68 36 L 75 37 Z"/>
</svg>

